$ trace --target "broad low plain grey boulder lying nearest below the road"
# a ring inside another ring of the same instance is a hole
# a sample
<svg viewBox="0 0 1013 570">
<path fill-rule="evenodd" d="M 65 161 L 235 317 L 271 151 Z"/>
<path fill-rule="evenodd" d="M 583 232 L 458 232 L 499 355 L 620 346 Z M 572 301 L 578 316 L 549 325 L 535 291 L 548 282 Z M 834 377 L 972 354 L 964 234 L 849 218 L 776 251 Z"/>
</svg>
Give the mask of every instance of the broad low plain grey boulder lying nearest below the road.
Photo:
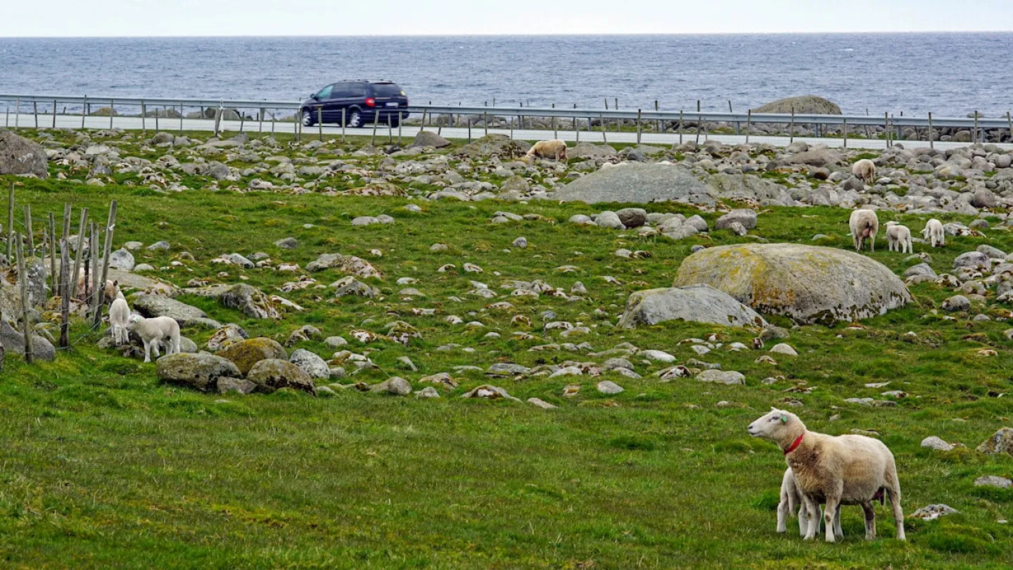
<svg viewBox="0 0 1013 570">
<path fill-rule="evenodd" d="M 552 195 L 568 202 L 685 202 L 714 204 L 710 191 L 685 166 L 630 163 L 581 176 Z"/>
</svg>

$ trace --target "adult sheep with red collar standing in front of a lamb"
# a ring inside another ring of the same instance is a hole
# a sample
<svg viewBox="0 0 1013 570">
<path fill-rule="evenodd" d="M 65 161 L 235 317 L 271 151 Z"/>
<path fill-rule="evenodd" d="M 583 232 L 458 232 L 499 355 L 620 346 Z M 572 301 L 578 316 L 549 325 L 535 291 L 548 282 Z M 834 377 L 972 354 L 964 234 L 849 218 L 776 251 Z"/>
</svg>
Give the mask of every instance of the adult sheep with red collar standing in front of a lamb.
<svg viewBox="0 0 1013 570">
<path fill-rule="evenodd" d="M 834 518 L 841 505 L 859 504 L 865 512 L 865 539 L 876 536 L 872 502 L 889 494 L 897 522 L 897 538 L 905 540 L 904 511 L 901 508 L 901 482 L 893 454 L 878 439 L 864 435 L 832 436 L 809 431 L 798 416 L 771 408 L 770 413 L 749 426 L 750 435 L 776 442 L 784 451 L 808 512 L 819 512 L 820 499 L 827 509 L 824 522 L 827 542 L 836 540 Z M 815 517 L 808 520 L 805 540 L 816 535 Z"/>
</svg>

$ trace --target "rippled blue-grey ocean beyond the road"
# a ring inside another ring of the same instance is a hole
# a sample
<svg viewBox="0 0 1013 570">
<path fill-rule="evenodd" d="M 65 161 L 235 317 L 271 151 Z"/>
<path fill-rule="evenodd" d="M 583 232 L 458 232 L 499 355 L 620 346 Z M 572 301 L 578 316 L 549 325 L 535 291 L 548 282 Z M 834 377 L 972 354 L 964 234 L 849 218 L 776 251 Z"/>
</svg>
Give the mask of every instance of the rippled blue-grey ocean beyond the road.
<svg viewBox="0 0 1013 570">
<path fill-rule="evenodd" d="M 1010 32 L 0 38 L 0 92 L 295 101 L 368 78 L 439 104 L 738 112 L 815 94 L 846 114 L 997 117 L 1010 54 Z"/>
</svg>

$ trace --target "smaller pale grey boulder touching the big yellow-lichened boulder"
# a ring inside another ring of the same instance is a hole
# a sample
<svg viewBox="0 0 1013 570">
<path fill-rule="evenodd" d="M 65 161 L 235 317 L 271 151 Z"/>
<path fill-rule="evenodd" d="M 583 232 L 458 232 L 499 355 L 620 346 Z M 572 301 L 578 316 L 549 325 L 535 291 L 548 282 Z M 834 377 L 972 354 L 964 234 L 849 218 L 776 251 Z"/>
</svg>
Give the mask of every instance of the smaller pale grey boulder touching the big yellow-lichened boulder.
<svg viewBox="0 0 1013 570">
<path fill-rule="evenodd" d="M 666 320 L 692 320 L 725 327 L 764 327 L 755 310 L 710 285 L 689 285 L 637 291 L 626 301 L 619 326 L 657 325 Z"/>
</svg>

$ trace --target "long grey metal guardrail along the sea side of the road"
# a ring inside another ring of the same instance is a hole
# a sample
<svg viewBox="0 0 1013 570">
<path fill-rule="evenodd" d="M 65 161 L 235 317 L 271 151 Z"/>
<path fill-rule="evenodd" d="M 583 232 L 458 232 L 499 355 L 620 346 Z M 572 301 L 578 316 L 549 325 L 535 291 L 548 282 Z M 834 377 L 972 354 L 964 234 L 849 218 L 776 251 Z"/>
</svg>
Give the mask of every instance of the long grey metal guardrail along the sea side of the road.
<svg viewBox="0 0 1013 570">
<path fill-rule="evenodd" d="M 0 93 L 0 100 L 21 103 L 105 105 L 105 106 L 186 106 L 224 109 L 276 109 L 298 111 L 302 101 L 268 101 L 255 99 L 211 99 L 211 98 L 169 98 L 169 97 L 116 97 L 116 96 L 67 96 L 29 95 Z M 847 123 L 852 127 L 943 127 L 965 129 L 1010 129 L 1013 127 L 1010 115 L 1005 118 L 973 117 L 870 117 L 864 115 L 811 115 L 811 114 L 760 114 L 720 113 L 707 111 L 614 111 L 593 109 L 557 109 L 533 106 L 462 106 L 413 104 L 408 113 L 426 115 L 471 115 L 489 117 L 543 117 L 560 119 L 608 119 L 641 122 L 705 121 L 711 123 L 755 123 L 840 126 Z M 1013 134 L 1013 133 L 1011 133 Z"/>
</svg>

